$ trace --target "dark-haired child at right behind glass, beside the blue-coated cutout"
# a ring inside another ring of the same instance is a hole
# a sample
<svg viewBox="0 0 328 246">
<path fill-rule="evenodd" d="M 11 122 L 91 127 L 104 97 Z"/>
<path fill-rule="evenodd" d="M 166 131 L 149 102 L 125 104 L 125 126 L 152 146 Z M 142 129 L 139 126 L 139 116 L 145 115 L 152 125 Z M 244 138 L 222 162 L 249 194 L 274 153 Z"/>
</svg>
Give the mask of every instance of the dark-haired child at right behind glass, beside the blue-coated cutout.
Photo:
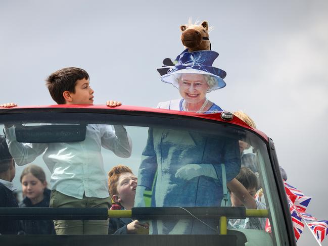
<svg viewBox="0 0 328 246">
<path fill-rule="evenodd" d="M 232 207 L 245 206 L 246 209 L 266 209 L 255 200 L 257 177 L 247 167 L 242 167 L 236 178 L 227 183 Z M 264 230 L 266 218 L 229 219 L 228 228 Z"/>
</svg>

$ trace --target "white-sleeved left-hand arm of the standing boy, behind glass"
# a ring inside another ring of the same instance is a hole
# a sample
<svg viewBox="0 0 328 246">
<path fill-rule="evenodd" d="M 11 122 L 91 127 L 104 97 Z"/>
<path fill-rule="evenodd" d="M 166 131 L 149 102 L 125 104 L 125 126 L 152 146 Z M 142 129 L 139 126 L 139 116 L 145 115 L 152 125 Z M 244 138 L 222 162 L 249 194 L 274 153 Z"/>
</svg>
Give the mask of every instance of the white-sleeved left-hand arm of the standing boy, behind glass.
<svg viewBox="0 0 328 246">
<path fill-rule="evenodd" d="M 44 143 L 21 143 L 17 142 L 15 134 L 15 126 L 4 129 L 8 149 L 17 165 L 25 165 L 31 163 L 36 157 L 41 155 L 45 149 Z"/>
</svg>

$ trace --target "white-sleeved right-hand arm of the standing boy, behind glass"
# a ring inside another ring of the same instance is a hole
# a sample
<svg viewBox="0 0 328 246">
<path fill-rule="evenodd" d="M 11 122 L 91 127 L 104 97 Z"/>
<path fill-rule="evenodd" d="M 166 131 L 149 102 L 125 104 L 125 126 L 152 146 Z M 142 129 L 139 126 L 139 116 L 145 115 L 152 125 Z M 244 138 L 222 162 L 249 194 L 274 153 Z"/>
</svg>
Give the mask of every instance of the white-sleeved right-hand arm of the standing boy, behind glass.
<svg viewBox="0 0 328 246">
<path fill-rule="evenodd" d="M 128 158 L 132 153 L 132 141 L 124 126 L 114 125 L 102 128 L 102 146 L 111 150 L 118 157 Z"/>
</svg>

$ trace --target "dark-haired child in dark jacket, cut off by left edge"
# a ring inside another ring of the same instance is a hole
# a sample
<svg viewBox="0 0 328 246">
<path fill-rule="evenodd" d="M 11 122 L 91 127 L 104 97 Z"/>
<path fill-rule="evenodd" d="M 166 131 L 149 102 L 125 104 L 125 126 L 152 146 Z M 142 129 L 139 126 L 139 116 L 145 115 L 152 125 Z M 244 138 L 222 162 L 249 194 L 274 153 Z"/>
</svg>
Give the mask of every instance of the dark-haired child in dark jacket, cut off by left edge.
<svg viewBox="0 0 328 246">
<path fill-rule="evenodd" d="M 0 208 L 17 208 L 17 200 L 13 193 L 16 188 L 12 183 L 16 173 L 15 162 L 9 153 L 6 138 L 0 135 Z M 19 221 L 12 219 L 0 220 L 0 234 L 17 234 Z"/>
</svg>

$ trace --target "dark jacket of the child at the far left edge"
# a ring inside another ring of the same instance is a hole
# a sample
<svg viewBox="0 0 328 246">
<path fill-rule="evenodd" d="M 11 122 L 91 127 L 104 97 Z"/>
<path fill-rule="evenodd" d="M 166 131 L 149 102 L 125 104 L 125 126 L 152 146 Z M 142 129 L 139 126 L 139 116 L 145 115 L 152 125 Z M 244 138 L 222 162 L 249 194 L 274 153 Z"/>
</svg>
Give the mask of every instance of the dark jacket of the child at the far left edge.
<svg viewBox="0 0 328 246">
<path fill-rule="evenodd" d="M 0 208 L 17 208 L 17 200 L 13 191 L 0 183 Z M 19 231 L 19 221 L 0 218 L 0 234 L 17 234 Z"/>
</svg>

